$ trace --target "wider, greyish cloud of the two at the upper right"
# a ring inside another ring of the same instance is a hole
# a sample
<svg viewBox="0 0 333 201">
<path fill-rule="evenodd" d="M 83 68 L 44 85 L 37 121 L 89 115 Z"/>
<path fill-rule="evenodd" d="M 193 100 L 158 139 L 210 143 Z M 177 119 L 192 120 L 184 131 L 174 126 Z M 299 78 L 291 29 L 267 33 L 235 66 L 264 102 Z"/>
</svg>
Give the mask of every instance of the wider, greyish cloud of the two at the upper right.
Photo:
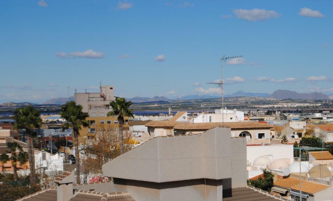
<svg viewBox="0 0 333 201">
<path fill-rule="evenodd" d="M 270 18 L 277 18 L 279 16 L 279 14 L 273 10 L 265 10 L 257 8 L 252 10 L 235 9 L 233 10 L 233 12 L 235 13 L 237 18 L 244 19 L 247 21 L 266 20 Z"/>
</svg>

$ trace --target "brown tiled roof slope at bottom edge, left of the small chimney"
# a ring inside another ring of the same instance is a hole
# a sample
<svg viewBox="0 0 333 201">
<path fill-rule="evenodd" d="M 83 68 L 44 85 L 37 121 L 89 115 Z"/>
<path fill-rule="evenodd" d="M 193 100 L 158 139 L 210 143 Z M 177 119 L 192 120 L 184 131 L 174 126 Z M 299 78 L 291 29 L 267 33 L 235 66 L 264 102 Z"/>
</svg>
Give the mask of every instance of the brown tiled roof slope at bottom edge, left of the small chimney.
<svg viewBox="0 0 333 201">
<path fill-rule="evenodd" d="M 17 201 L 57 201 L 57 188 L 47 188 L 36 193 L 25 196 Z"/>
</svg>

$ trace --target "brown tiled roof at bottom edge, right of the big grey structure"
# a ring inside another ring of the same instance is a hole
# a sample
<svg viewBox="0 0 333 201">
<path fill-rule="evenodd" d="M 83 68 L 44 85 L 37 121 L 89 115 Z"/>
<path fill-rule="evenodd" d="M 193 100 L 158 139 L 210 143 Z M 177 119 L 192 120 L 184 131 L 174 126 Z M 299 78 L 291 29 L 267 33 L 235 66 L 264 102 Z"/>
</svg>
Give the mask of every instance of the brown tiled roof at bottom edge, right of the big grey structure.
<svg viewBox="0 0 333 201">
<path fill-rule="evenodd" d="M 230 190 L 223 191 L 223 201 L 255 201 L 255 200 L 265 200 L 265 201 L 277 201 L 285 200 L 281 196 L 276 196 L 267 191 L 263 191 L 257 188 L 244 186 L 239 188 L 232 188 Z"/>
</svg>

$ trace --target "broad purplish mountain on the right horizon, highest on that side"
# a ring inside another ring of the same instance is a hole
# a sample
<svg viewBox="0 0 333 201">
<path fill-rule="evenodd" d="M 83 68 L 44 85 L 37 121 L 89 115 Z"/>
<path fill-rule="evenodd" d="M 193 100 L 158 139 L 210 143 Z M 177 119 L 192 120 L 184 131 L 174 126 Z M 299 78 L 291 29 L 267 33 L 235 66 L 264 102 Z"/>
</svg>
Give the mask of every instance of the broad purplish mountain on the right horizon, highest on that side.
<svg viewBox="0 0 333 201">
<path fill-rule="evenodd" d="M 297 93 L 296 91 L 290 91 L 290 90 L 276 90 L 272 93 L 270 96 L 271 98 L 276 98 L 276 99 L 302 99 L 302 100 L 329 100 L 330 98 L 328 95 L 323 94 L 323 93 Z"/>
</svg>

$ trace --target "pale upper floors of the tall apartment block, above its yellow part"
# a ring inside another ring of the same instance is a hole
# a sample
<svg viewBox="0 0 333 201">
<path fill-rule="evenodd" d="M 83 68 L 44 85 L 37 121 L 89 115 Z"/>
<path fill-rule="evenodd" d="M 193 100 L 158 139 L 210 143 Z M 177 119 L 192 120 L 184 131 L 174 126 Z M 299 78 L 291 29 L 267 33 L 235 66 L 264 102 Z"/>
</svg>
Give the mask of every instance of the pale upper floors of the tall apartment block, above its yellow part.
<svg viewBox="0 0 333 201">
<path fill-rule="evenodd" d="M 83 106 L 82 112 L 90 117 L 106 117 L 110 109 L 110 102 L 115 100 L 113 86 L 100 86 L 100 92 L 77 93 L 75 89 L 75 102 Z"/>
</svg>

